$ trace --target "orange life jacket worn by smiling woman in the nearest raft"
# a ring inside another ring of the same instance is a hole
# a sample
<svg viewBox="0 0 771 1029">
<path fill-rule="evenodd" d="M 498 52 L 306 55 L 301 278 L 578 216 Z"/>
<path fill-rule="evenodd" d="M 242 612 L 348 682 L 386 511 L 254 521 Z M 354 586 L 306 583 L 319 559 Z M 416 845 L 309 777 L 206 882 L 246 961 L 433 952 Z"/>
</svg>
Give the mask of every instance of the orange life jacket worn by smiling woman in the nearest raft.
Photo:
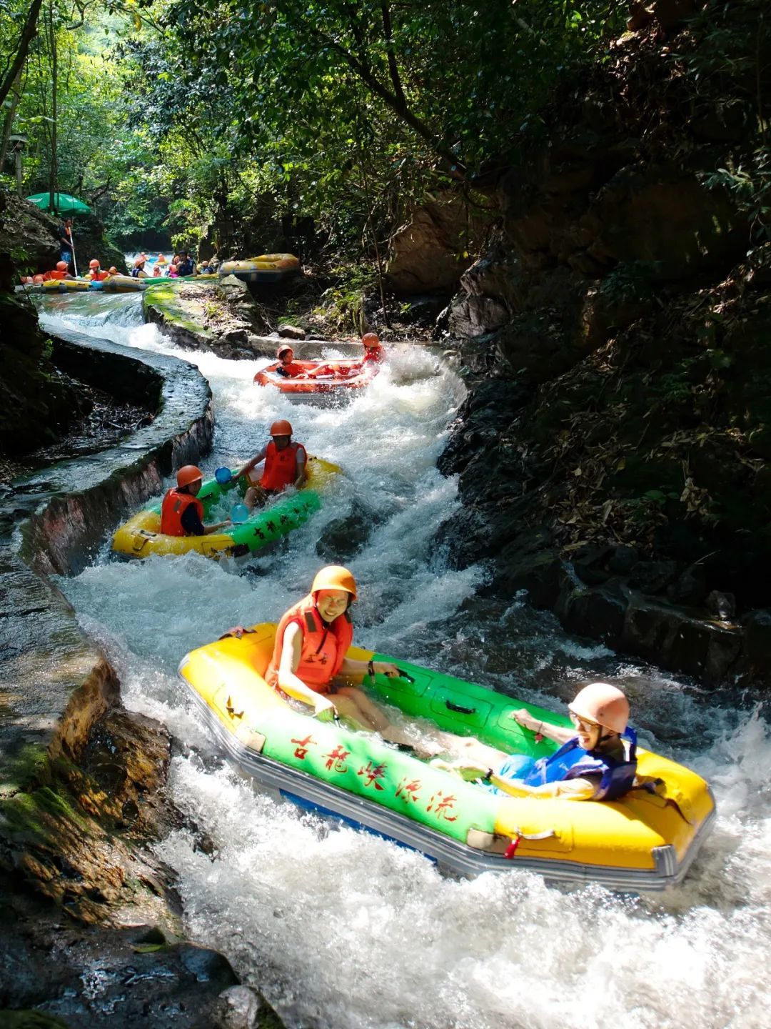
<svg viewBox="0 0 771 1029">
<path fill-rule="evenodd" d="M 329 693 L 332 679 L 340 671 L 345 651 L 354 639 L 354 627 L 348 612 L 344 611 L 334 622 L 326 623 L 319 613 L 314 595 L 309 593 L 282 615 L 276 630 L 273 655 L 265 672 L 266 681 L 274 688 L 279 685 L 284 633 L 287 626 L 293 623 L 302 630 L 300 663 L 295 675 L 315 693 Z"/>
</svg>

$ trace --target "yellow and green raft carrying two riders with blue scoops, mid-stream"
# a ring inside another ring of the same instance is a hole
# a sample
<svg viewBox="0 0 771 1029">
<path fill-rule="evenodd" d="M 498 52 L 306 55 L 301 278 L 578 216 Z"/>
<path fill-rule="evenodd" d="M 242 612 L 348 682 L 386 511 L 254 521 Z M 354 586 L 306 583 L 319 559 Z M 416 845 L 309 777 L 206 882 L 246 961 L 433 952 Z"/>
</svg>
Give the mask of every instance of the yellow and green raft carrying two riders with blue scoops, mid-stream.
<svg viewBox="0 0 771 1029">
<path fill-rule="evenodd" d="M 323 490 L 339 470 L 337 465 L 308 456 L 307 480 L 302 489 L 280 497 L 269 507 L 254 510 L 246 522 L 208 536 L 169 536 L 160 532 L 161 501 L 158 500 L 120 526 L 112 537 L 112 548 L 131 558 L 187 554 L 188 551 L 208 558 L 241 558 L 254 554 L 307 522 L 321 507 L 318 491 Z M 242 481 L 241 488 L 244 487 Z M 225 493 L 232 492 L 233 501 L 237 500 L 238 489 L 233 481 L 221 486 L 216 478 L 207 480 L 198 493 L 204 503 L 204 521 L 221 521 L 213 520 L 210 511 Z"/>
</svg>

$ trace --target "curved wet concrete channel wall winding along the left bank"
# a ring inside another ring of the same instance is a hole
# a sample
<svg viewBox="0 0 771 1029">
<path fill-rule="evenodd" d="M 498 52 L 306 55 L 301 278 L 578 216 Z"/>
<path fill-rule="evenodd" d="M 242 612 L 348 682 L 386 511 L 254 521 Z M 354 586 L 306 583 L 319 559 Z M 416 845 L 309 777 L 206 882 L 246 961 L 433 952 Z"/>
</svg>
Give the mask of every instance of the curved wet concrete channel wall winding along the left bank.
<svg viewBox="0 0 771 1029">
<path fill-rule="evenodd" d="M 42 469 L 0 500 L 0 864 L 11 866 L 19 854 L 3 839 L 3 800 L 49 778 L 58 756 L 77 760 L 119 702 L 114 671 L 47 576 L 80 571 L 163 475 L 208 452 L 214 426 L 194 365 L 77 332 L 54 346 L 59 365 L 121 399 L 150 401 L 155 414 L 117 446 Z"/>
</svg>

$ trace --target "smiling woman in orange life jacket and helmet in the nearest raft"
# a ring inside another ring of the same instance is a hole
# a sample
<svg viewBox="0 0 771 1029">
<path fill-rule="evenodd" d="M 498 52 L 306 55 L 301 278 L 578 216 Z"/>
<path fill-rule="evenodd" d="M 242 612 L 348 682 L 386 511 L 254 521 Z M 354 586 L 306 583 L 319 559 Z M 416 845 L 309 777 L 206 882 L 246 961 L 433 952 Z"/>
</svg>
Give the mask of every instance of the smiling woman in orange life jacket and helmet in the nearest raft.
<svg viewBox="0 0 771 1029">
<path fill-rule="evenodd" d="M 356 729 L 410 746 L 406 736 L 362 689 L 335 681 L 338 675 L 400 674 L 390 662 L 345 657 L 354 636 L 348 607 L 355 600 L 356 580 L 347 568 L 322 568 L 310 593 L 282 615 L 265 679 L 274 689 L 313 707 L 322 721 L 339 715 Z M 245 631 L 243 626 L 229 630 L 237 638 Z"/>
</svg>

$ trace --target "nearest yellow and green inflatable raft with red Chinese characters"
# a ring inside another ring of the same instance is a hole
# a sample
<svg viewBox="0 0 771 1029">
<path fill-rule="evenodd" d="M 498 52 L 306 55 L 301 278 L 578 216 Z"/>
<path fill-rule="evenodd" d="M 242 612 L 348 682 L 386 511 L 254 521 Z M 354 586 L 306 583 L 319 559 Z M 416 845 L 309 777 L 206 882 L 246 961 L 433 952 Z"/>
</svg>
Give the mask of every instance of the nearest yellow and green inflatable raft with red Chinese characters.
<svg viewBox="0 0 771 1029">
<path fill-rule="evenodd" d="M 471 876 L 526 870 L 549 880 L 662 890 L 686 875 L 714 817 L 709 787 L 696 773 L 637 750 L 638 780 L 621 801 L 530 800 L 500 795 L 389 746 L 376 734 L 321 722 L 295 710 L 263 678 L 276 626 L 258 625 L 192 650 L 179 674 L 228 756 L 264 787 L 357 827 L 386 836 Z M 352 647 L 357 660 L 393 661 Z M 543 756 L 511 717 L 550 711 L 484 686 L 398 662 L 399 679 L 365 677 L 375 700 L 423 716 L 506 753 Z"/>
</svg>

